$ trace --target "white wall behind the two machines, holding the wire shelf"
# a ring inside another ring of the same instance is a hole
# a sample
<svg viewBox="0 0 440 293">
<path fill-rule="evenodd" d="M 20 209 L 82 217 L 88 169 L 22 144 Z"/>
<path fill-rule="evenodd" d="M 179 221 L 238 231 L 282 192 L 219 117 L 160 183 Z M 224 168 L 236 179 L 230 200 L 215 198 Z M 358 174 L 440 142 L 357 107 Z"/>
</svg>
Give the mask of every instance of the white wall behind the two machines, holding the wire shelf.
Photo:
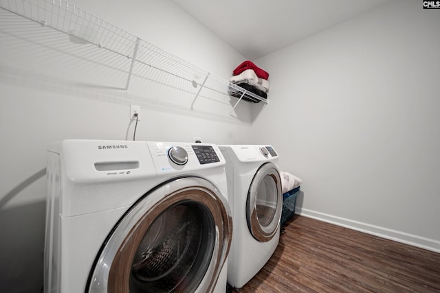
<svg viewBox="0 0 440 293">
<path fill-rule="evenodd" d="M 243 61 L 170 1 L 71 2 L 224 78 Z M 0 43 L 2 292 L 39 292 L 43 285 L 45 151 L 51 141 L 131 139 L 130 104 L 142 107 L 137 140 L 250 140 L 249 106 L 237 109 L 239 119 L 219 114 L 214 106 L 191 110 L 179 95 L 162 101 L 167 93 L 153 95 L 142 80 L 133 80 L 126 94 L 126 72 L 115 69 L 126 60 L 70 43 L 67 36 L 4 10 Z M 198 100 L 196 106 L 199 103 L 205 105 Z M 224 104 L 232 108 L 229 101 Z"/>
</svg>

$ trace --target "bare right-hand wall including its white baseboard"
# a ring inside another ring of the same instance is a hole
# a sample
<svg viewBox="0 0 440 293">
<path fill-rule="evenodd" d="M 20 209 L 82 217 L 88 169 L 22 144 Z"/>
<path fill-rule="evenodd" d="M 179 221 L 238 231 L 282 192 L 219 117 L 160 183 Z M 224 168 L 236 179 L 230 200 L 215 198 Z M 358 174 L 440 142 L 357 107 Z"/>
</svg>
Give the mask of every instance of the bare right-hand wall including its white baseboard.
<svg viewBox="0 0 440 293">
<path fill-rule="evenodd" d="M 256 60 L 255 143 L 303 179 L 301 214 L 440 251 L 439 11 L 394 1 Z"/>
</svg>

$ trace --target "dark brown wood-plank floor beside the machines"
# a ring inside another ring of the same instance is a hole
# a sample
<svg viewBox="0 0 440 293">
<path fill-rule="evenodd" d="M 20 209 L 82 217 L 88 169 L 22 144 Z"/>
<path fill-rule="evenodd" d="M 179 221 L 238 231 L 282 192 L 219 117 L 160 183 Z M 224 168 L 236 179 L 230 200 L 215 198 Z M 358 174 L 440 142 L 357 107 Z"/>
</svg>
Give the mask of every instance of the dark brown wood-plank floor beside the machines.
<svg viewBox="0 0 440 293">
<path fill-rule="evenodd" d="M 233 292 L 440 292 L 440 253 L 294 215 L 270 261 Z"/>
</svg>

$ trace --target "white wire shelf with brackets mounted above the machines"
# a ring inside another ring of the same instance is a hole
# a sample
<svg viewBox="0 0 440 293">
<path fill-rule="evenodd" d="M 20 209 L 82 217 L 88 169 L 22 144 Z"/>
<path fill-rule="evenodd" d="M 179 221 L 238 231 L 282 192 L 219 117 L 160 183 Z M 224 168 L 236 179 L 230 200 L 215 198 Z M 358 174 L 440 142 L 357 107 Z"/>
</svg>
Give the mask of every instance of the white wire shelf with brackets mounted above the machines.
<svg viewBox="0 0 440 293">
<path fill-rule="evenodd" d="M 262 97 L 246 91 L 229 80 L 210 74 L 208 71 L 200 69 L 67 1 L 0 0 L 0 7 L 40 23 L 42 26 L 67 34 L 73 43 L 96 45 L 131 60 L 126 91 L 129 89 L 133 68 L 144 66 L 191 82 L 195 88 L 198 88 L 191 107 L 197 97 L 201 95 L 203 88 L 206 88 L 208 92 L 221 93 L 225 96 L 229 96 L 231 91 L 235 93 L 235 96 L 238 93 L 239 99 L 232 111 L 245 95 L 252 97 L 257 102 L 267 104 L 267 101 Z M 195 80 L 195 77 L 201 78 L 203 82 Z"/>
</svg>

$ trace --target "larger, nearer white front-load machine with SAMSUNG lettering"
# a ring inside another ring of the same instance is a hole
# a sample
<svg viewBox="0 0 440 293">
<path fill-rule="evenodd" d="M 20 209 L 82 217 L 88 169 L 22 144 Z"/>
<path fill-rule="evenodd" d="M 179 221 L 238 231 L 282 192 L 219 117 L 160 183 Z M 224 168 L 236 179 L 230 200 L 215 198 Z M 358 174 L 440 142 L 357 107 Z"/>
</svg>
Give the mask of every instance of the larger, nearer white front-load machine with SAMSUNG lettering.
<svg viewBox="0 0 440 293">
<path fill-rule="evenodd" d="M 45 292 L 224 293 L 227 192 L 216 145 L 54 143 Z"/>
</svg>

